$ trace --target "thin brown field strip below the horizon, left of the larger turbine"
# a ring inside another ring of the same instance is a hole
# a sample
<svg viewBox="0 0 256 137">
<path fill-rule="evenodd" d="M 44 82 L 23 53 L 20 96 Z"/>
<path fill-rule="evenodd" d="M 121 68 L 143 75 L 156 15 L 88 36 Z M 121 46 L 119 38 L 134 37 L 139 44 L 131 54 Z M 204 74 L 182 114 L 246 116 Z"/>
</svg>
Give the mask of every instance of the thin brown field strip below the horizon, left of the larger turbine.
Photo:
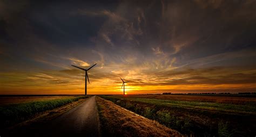
<svg viewBox="0 0 256 137">
<path fill-rule="evenodd" d="M 25 103 L 25 102 L 42 101 L 42 100 L 71 98 L 71 97 L 75 97 L 75 96 L 1 97 L 0 105 L 10 104 L 10 103 Z"/>
</svg>

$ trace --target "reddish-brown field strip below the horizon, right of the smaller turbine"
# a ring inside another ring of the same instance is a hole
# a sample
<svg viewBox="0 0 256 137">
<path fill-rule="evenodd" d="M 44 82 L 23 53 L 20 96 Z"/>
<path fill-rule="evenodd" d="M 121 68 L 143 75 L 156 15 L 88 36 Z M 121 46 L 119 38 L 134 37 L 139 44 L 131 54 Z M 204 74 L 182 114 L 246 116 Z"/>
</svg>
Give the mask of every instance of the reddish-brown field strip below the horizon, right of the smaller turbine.
<svg viewBox="0 0 256 137">
<path fill-rule="evenodd" d="M 197 102 L 212 102 L 223 104 L 247 105 L 256 104 L 255 97 L 220 97 L 220 96 L 196 96 L 196 95 L 127 95 L 126 97 L 166 99 L 166 100 L 183 100 Z"/>
</svg>

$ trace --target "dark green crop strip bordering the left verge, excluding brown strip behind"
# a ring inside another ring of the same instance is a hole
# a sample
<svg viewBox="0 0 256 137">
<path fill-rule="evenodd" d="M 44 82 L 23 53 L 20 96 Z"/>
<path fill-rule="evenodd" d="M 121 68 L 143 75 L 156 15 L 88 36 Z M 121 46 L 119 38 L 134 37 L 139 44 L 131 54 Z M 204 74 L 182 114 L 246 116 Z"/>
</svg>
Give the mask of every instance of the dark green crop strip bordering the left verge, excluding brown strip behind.
<svg viewBox="0 0 256 137">
<path fill-rule="evenodd" d="M 28 103 L 14 103 L 0 106 L 1 127 L 5 128 L 19 122 L 29 120 L 37 114 L 56 109 L 57 107 L 75 102 L 88 96 L 77 96 L 73 98 L 62 98 L 53 100 L 42 100 Z"/>
</svg>

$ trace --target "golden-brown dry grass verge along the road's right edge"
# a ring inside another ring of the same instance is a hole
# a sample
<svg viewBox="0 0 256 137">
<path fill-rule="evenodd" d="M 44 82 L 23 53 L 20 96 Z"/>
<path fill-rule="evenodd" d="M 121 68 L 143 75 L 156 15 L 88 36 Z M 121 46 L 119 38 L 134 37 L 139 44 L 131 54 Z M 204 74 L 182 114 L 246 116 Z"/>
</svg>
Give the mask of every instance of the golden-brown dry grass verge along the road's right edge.
<svg viewBox="0 0 256 137">
<path fill-rule="evenodd" d="M 182 136 L 109 100 L 97 97 L 103 136 Z M 104 128 L 104 129 L 103 129 Z"/>
</svg>

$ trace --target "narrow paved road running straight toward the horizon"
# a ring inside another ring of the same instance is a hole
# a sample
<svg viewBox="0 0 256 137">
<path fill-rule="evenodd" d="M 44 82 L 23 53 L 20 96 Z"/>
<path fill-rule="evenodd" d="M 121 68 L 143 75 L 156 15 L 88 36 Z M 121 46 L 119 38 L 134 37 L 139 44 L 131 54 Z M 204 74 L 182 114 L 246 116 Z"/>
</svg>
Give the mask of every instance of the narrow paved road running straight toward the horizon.
<svg viewBox="0 0 256 137">
<path fill-rule="evenodd" d="M 98 111 L 95 96 L 44 124 L 19 129 L 10 136 L 99 136 Z"/>
</svg>

